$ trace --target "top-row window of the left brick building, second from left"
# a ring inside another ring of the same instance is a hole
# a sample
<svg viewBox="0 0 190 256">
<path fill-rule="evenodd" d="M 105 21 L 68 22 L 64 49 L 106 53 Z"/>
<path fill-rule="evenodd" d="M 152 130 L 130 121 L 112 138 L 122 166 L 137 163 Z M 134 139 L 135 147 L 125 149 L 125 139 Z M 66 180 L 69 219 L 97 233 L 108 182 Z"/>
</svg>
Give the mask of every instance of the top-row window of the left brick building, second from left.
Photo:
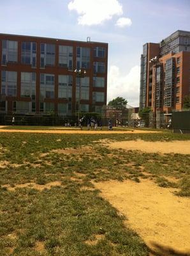
<svg viewBox="0 0 190 256">
<path fill-rule="evenodd" d="M 22 42 L 21 61 L 36 67 L 36 43 Z"/>
</svg>

